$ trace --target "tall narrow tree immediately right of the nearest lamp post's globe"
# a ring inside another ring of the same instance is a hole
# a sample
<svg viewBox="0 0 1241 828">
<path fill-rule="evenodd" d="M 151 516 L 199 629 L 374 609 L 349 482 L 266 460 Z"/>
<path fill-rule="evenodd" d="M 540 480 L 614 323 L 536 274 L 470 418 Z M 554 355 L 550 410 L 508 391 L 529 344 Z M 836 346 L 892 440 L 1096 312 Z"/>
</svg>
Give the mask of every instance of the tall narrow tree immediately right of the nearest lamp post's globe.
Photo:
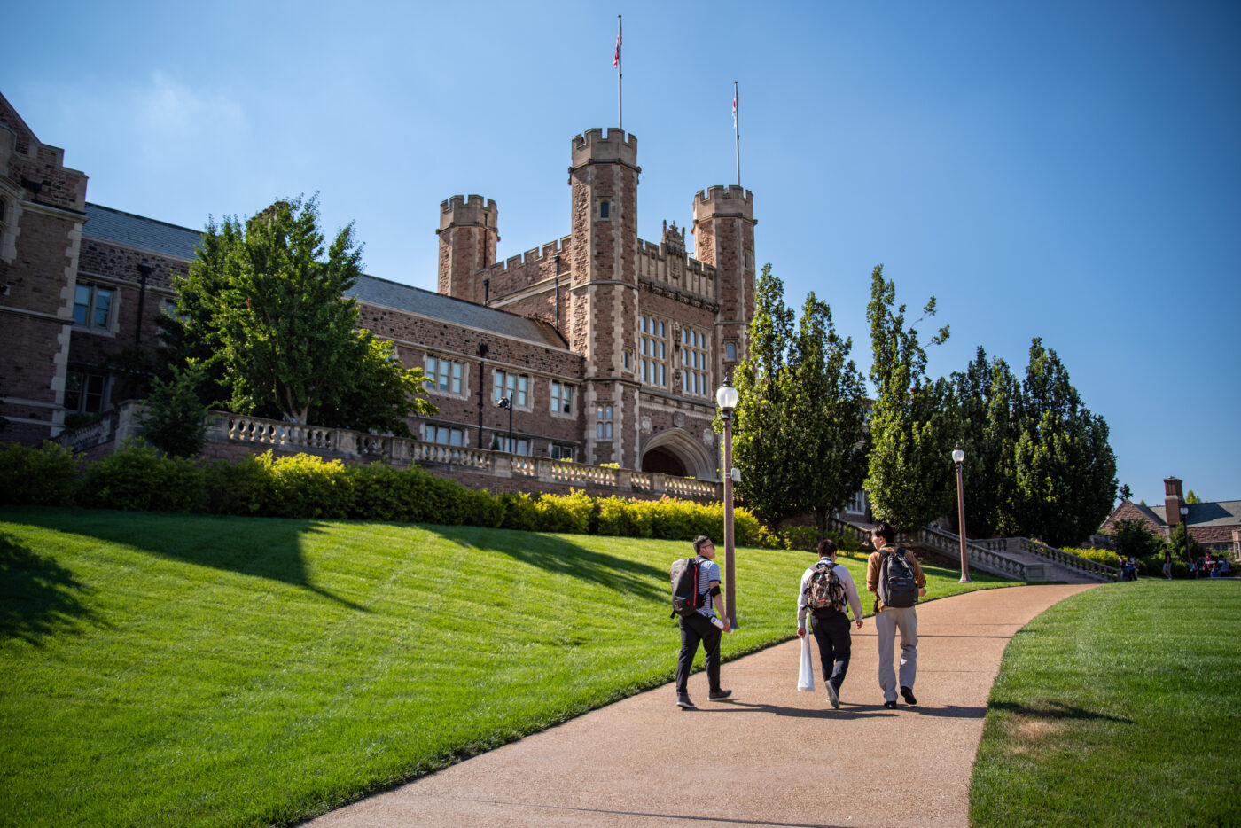
<svg viewBox="0 0 1241 828">
<path fill-rule="evenodd" d="M 745 359 L 732 372 L 737 389 L 733 412 L 733 463 L 742 469 L 737 484 L 746 505 L 767 525 L 797 513 L 797 475 L 789 456 L 784 398 L 793 312 L 784 304 L 784 283 L 771 264 L 755 286 L 755 315 Z"/>
</svg>

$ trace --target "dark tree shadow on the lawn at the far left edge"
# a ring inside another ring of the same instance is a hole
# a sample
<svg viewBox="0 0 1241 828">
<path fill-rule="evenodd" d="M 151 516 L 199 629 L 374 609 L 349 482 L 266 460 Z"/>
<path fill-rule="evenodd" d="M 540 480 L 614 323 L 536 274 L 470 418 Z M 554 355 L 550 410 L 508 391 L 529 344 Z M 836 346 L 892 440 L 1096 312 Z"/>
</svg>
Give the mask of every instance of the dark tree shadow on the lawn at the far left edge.
<svg viewBox="0 0 1241 828">
<path fill-rule="evenodd" d="M 0 534 L 0 638 L 42 647 L 45 637 L 73 631 L 81 621 L 101 623 L 82 601 L 87 592 L 50 556 Z"/>
</svg>

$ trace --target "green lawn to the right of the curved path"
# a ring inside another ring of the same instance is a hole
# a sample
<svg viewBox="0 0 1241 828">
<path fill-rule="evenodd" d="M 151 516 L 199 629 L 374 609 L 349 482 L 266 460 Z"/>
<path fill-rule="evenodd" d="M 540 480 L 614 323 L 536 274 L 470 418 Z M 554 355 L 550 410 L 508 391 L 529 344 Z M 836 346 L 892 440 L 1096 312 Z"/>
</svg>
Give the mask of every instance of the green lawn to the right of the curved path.
<svg viewBox="0 0 1241 828">
<path fill-rule="evenodd" d="M 1241 824 L 1241 582 L 1144 578 L 1051 607 L 1004 653 L 974 826 Z"/>
</svg>

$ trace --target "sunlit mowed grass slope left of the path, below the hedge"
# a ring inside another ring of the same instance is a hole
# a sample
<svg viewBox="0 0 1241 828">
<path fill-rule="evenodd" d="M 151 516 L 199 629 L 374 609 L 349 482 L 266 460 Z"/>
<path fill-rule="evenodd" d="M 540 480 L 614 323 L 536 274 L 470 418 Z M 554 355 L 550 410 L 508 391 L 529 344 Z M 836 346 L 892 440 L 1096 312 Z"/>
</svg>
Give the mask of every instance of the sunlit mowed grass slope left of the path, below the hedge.
<svg viewBox="0 0 1241 828">
<path fill-rule="evenodd" d="M 669 682 L 689 549 L 0 510 L 0 824 L 289 823 Z M 725 658 L 792 636 L 813 560 L 738 550 Z"/>
</svg>

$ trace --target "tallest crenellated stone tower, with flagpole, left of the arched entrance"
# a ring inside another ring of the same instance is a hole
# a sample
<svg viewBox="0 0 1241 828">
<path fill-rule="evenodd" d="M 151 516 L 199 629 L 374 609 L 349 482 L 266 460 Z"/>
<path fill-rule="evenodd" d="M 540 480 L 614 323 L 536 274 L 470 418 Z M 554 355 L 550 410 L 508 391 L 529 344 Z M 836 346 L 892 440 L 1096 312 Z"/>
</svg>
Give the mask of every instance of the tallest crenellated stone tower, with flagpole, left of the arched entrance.
<svg viewBox="0 0 1241 828">
<path fill-rule="evenodd" d="M 587 412 L 611 406 L 613 432 L 606 439 L 591 431 L 588 453 L 594 462 L 633 467 L 638 385 L 624 349 L 638 315 L 638 139 L 619 129 L 588 129 L 573 138 L 571 153 L 566 333 L 570 348 L 586 355 Z"/>
</svg>

